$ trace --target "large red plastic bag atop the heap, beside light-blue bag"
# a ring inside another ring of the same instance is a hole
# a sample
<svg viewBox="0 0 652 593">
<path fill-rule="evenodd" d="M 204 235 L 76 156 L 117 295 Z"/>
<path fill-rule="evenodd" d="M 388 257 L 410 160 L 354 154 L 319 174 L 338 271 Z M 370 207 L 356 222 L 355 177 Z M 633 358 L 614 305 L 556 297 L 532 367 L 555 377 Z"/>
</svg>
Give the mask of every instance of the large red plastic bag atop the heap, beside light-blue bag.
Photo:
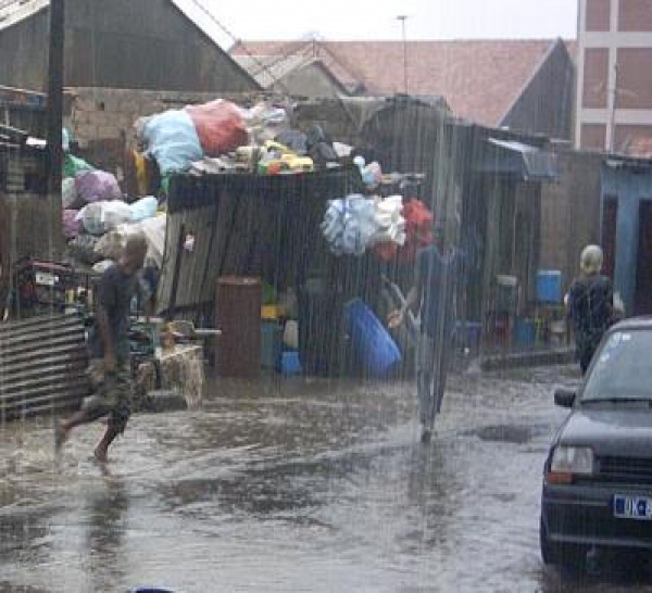
<svg viewBox="0 0 652 593">
<path fill-rule="evenodd" d="M 220 156 L 248 143 L 249 136 L 238 108 L 222 99 L 203 105 L 186 105 L 206 156 Z"/>
</svg>

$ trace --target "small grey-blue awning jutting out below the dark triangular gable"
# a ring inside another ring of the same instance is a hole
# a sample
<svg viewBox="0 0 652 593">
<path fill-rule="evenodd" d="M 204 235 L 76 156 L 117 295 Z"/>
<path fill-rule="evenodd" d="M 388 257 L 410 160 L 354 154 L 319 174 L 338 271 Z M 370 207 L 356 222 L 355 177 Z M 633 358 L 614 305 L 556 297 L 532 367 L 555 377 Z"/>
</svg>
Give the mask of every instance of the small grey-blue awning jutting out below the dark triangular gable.
<svg viewBox="0 0 652 593">
<path fill-rule="evenodd" d="M 556 155 L 552 152 L 514 140 L 489 138 L 480 171 L 517 175 L 525 181 L 544 181 L 557 178 Z"/>
</svg>

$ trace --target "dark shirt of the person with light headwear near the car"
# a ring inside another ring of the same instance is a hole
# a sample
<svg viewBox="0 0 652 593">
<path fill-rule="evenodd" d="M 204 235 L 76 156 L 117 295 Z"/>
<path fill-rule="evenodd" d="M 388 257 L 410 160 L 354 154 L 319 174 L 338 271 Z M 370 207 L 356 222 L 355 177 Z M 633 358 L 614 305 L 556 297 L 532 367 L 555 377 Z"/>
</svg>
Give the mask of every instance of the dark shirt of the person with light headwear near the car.
<svg viewBox="0 0 652 593">
<path fill-rule="evenodd" d="M 613 318 L 613 287 L 606 276 L 577 278 L 568 291 L 568 315 L 579 342 L 599 342 Z"/>
</svg>

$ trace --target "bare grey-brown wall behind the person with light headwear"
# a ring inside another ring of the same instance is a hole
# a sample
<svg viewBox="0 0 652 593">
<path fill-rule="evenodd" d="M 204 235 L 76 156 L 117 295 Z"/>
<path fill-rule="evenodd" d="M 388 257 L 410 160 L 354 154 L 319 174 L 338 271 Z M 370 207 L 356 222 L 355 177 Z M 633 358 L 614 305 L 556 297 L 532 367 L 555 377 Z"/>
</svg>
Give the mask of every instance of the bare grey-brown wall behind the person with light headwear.
<svg viewBox="0 0 652 593">
<path fill-rule="evenodd" d="M 541 268 L 559 269 L 567 288 L 579 254 L 600 241 L 600 172 L 603 155 L 557 149 L 559 181 L 541 191 Z"/>
</svg>

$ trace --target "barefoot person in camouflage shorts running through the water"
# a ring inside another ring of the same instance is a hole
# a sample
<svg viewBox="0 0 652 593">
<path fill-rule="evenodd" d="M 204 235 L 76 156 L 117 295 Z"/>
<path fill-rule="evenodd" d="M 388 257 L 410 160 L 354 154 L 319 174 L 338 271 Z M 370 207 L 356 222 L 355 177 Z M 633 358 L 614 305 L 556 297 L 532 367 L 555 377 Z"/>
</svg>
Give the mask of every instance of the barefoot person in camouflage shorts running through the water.
<svg viewBox="0 0 652 593">
<path fill-rule="evenodd" d="M 127 426 L 130 415 L 129 310 L 131 298 L 140 289 L 139 270 L 147 254 L 142 235 L 127 239 L 123 256 L 102 275 L 95 295 L 96 320 L 89 339 L 89 374 L 92 395 L 82 408 L 54 428 L 54 444 L 61 449 L 76 426 L 108 416 L 108 426 L 93 455 L 104 463 L 109 446 Z"/>
</svg>

